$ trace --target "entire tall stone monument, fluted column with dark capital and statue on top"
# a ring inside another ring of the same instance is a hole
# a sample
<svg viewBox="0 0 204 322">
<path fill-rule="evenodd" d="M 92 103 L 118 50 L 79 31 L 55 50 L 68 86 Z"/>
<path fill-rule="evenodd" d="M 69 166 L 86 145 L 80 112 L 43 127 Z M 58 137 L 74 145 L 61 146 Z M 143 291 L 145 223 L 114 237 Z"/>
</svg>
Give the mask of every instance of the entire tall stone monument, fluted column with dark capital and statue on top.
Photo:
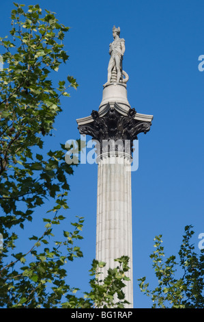
<svg viewBox="0 0 204 322">
<path fill-rule="evenodd" d="M 115 266 L 115 258 L 123 255 L 130 258 L 130 281 L 126 282 L 124 292 L 130 302 L 126 307 L 133 308 L 132 147 L 139 133 L 149 131 L 153 116 L 139 114 L 130 107 L 126 86 L 129 77 L 122 69 L 125 40 L 119 35 L 120 28 L 114 26 L 108 80 L 103 86 L 99 109 L 76 121 L 79 132 L 91 136 L 97 143 L 96 259 L 106 262 L 108 269 Z"/>
</svg>

